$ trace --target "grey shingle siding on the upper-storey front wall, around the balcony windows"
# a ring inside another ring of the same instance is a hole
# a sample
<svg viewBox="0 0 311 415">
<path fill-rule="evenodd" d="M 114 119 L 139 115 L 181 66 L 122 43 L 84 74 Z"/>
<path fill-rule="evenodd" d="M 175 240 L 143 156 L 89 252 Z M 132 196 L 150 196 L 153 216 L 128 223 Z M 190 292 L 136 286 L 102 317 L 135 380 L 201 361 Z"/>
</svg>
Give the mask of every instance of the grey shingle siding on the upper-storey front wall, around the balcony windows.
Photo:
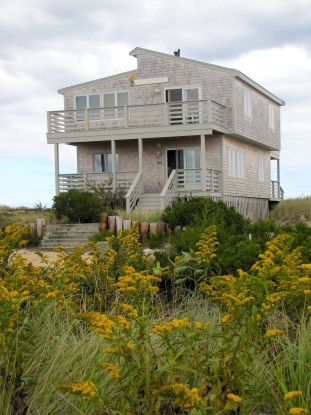
<svg viewBox="0 0 311 415">
<path fill-rule="evenodd" d="M 74 89 L 64 91 L 65 109 L 74 108 L 76 95 L 128 91 L 130 105 L 147 105 L 165 102 L 167 88 L 197 86 L 201 91 L 201 99 L 212 99 L 227 108 L 228 128 L 232 127 L 233 82 L 228 71 L 185 63 L 178 58 L 170 60 L 149 54 L 139 55 L 137 60 L 136 79 L 168 77 L 168 82 L 131 87 L 129 76 L 121 75 L 98 80 L 91 85 L 77 85 Z M 156 88 L 159 91 L 157 95 L 154 93 Z"/>
</svg>

